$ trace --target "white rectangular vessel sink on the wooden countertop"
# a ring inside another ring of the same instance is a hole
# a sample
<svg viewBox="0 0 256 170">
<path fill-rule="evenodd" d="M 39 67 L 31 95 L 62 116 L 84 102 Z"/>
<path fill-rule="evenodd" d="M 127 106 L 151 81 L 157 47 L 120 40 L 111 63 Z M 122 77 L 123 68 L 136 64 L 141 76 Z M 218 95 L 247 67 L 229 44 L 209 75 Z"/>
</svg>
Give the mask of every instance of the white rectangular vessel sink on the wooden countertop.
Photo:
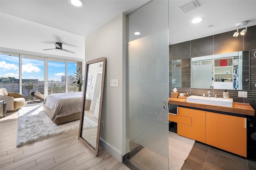
<svg viewBox="0 0 256 170">
<path fill-rule="evenodd" d="M 187 97 L 187 102 L 191 103 L 201 103 L 209 105 L 218 105 L 218 106 L 233 106 L 233 99 L 224 99 L 224 98 L 214 98 L 214 97 L 202 97 L 202 96 L 190 96 Z"/>
</svg>

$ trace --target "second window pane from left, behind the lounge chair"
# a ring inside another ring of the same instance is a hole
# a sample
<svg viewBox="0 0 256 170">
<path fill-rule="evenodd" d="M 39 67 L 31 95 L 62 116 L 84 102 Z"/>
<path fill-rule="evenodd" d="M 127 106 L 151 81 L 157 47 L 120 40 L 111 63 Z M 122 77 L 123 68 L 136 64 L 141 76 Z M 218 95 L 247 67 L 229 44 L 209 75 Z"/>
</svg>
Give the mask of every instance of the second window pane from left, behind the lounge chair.
<svg viewBox="0 0 256 170">
<path fill-rule="evenodd" d="M 22 55 L 22 95 L 26 101 L 36 99 L 32 91 L 44 93 L 44 57 Z"/>
</svg>

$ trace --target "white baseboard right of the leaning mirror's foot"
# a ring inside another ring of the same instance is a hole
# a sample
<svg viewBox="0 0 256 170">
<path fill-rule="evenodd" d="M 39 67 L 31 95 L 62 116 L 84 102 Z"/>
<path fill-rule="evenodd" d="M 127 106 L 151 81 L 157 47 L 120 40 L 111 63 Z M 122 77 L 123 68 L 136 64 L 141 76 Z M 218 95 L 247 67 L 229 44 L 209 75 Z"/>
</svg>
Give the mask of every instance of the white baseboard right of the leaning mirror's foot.
<svg viewBox="0 0 256 170">
<path fill-rule="evenodd" d="M 118 160 L 120 163 L 123 162 L 123 156 L 122 153 L 120 153 L 119 150 L 114 148 L 111 144 L 100 138 L 100 147 L 102 149 L 106 150 L 111 156 L 113 156 L 116 160 Z"/>
</svg>

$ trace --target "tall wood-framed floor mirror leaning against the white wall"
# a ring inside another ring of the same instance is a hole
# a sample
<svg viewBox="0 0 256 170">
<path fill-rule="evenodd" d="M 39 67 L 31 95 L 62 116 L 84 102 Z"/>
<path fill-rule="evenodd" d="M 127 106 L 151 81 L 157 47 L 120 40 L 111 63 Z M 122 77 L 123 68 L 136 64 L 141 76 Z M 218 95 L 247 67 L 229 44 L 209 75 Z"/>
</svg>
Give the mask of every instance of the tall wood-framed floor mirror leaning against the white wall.
<svg viewBox="0 0 256 170">
<path fill-rule="evenodd" d="M 106 58 L 86 62 L 79 140 L 98 154 Z"/>
</svg>

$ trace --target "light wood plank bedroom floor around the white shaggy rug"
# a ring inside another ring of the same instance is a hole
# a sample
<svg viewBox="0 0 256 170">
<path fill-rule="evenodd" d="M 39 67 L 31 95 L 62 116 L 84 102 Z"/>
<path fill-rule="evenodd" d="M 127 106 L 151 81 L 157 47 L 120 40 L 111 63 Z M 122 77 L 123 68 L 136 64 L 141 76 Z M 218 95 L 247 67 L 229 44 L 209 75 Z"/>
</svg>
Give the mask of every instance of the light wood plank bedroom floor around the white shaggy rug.
<svg viewBox="0 0 256 170">
<path fill-rule="evenodd" d="M 102 148 L 94 156 L 78 140 L 78 130 L 16 147 L 18 115 L 0 119 L 1 170 L 130 170 Z"/>
</svg>

